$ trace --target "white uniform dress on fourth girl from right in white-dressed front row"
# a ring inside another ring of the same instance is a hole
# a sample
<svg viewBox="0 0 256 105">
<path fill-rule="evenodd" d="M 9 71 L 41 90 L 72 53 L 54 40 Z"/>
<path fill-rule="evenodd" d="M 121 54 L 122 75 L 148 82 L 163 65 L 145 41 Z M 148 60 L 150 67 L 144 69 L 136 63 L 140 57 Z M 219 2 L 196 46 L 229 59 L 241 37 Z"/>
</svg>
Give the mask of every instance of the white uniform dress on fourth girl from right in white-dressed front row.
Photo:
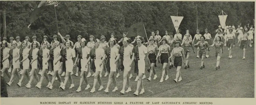
<svg viewBox="0 0 256 105">
<path fill-rule="evenodd" d="M 95 49 L 95 67 L 96 67 L 96 71 L 101 71 L 103 69 L 103 65 L 100 66 L 101 63 L 101 58 L 105 55 L 105 51 L 102 48 L 97 48 Z"/>
</svg>

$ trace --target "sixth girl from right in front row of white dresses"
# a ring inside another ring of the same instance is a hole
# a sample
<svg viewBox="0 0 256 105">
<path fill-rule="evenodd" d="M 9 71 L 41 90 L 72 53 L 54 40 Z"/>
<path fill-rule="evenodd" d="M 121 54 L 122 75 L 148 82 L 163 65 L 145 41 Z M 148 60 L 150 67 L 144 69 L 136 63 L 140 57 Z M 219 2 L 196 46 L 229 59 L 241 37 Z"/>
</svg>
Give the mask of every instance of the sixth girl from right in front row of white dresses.
<svg viewBox="0 0 256 105">
<path fill-rule="evenodd" d="M 73 72 L 73 66 L 70 66 L 70 65 L 73 65 L 72 58 L 75 58 L 75 50 L 71 49 L 70 45 L 71 45 L 71 42 L 66 41 L 66 48 L 62 49 L 61 50 L 62 53 L 60 53 L 61 54 L 60 56 L 63 57 L 63 62 L 65 62 L 65 64 L 67 64 L 66 65 L 66 71 L 67 72 L 66 72 L 66 76 L 65 76 L 65 81 L 64 81 L 64 84 L 60 87 L 62 90 L 65 90 L 65 86 L 66 86 L 69 79 L 70 79 L 69 82 L 71 83 L 69 89 L 74 87 L 73 79 L 72 79 L 72 76 L 70 74 L 71 72 Z"/>
</svg>

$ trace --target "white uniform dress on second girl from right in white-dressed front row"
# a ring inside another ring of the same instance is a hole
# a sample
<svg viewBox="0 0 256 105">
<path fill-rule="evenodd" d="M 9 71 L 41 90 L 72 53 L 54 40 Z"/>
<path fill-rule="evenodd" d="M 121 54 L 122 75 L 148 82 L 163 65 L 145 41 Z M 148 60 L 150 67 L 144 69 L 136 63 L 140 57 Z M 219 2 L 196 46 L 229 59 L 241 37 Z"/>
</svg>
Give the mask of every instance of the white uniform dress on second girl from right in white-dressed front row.
<svg viewBox="0 0 256 105">
<path fill-rule="evenodd" d="M 124 61 L 123 61 L 123 65 L 124 65 L 124 70 L 125 71 L 130 71 L 131 70 L 131 67 L 130 67 L 130 64 L 132 62 L 131 60 L 131 55 L 132 55 L 132 47 L 130 46 L 127 46 L 127 47 L 124 47 Z"/>
</svg>

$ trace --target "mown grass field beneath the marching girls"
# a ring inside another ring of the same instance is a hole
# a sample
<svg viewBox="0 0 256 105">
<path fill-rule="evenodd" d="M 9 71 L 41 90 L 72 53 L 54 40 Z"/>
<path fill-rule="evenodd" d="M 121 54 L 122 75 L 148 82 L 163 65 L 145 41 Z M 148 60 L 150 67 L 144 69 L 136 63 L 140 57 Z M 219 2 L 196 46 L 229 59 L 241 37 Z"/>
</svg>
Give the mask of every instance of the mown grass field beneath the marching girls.
<svg viewBox="0 0 256 105">
<path fill-rule="evenodd" d="M 215 70 L 216 57 L 214 57 L 214 48 L 210 48 L 210 57 L 205 59 L 205 68 L 199 69 L 200 59 L 196 58 L 196 54 L 190 55 L 190 68 L 181 69 L 182 81 L 175 83 L 173 79 L 176 75 L 176 69 L 168 69 L 169 80 L 159 83 L 161 78 L 162 65 L 157 63 L 156 72 L 157 79 L 148 82 L 146 78 L 143 80 L 145 93 L 139 96 L 133 95 L 136 90 L 137 82 L 134 82 L 135 74 L 131 78 L 132 92 L 124 95 L 119 91 L 123 86 L 123 72 L 120 71 L 120 76 L 117 78 L 118 91 L 112 92 L 113 84 L 109 88 L 109 93 L 103 92 L 108 82 L 108 77 L 102 77 L 103 87 L 102 91 L 98 91 L 99 85 L 96 86 L 95 93 L 89 93 L 90 89 L 83 90 L 86 87 L 82 85 L 82 91 L 77 93 L 75 90 L 79 86 L 80 77 L 73 75 L 75 87 L 68 89 L 69 82 L 65 91 L 58 88 L 58 81 L 55 82 L 54 88 L 49 90 L 44 80 L 42 88 L 34 87 L 36 81 L 34 80 L 31 88 L 27 89 L 25 84 L 27 79 L 18 87 L 18 79 L 15 78 L 12 86 L 7 86 L 9 97 L 173 97 L 173 98 L 254 98 L 254 47 L 246 49 L 246 59 L 243 60 L 243 52 L 238 46 L 233 48 L 233 58 L 228 58 L 228 49 L 224 48 L 224 54 L 221 58 L 221 69 Z M 75 72 L 75 69 L 73 70 Z M 148 77 L 149 73 L 145 71 Z M 103 73 L 104 74 L 104 73 Z M 153 77 L 153 76 L 152 76 Z M 50 76 L 51 78 L 51 76 Z M 5 81 L 9 78 L 5 76 Z M 62 77 L 63 79 L 63 77 Z M 63 79 L 64 80 L 64 79 Z M 89 77 L 88 81 L 93 86 L 93 77 Z M 140 92 L 140 90 L 139 90 Z"/>
</svg>

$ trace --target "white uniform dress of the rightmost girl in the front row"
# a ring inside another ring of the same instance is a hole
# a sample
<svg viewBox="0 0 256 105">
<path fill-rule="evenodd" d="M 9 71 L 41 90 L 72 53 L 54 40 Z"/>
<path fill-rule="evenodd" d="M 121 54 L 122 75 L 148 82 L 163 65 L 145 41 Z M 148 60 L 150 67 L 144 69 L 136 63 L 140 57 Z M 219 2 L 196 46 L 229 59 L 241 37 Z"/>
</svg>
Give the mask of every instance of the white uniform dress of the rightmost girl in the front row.
<svg viewBox="0 0 256 105">
<path fill-rule="evenodd" d="M 147 47 L 144 45 L 141 45 L 141 47 L 138 47 L 139 49 L 139 57 L 140 60 L 138 60 L 138 69 L 139 73 L 145 73 L 145 54 L 147 54 Z"/>
</svg>

